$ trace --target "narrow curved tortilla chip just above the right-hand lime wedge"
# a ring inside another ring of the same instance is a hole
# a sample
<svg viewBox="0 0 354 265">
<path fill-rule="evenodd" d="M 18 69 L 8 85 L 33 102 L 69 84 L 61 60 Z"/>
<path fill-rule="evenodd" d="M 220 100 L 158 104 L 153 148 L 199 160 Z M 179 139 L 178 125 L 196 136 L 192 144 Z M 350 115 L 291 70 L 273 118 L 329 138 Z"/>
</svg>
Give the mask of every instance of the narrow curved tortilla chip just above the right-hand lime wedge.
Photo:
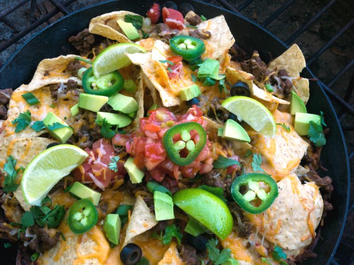
<svg viewBox="0 0 354 265">
<path fill-rule="evenodd" d="M 235 84 L 238 81 L 245 82 L 248 84 L 251 94 L 261 100 L 267 102 L 275 102 L 279 104 L 290 104 L 290 102 L 286 100 L 279 99 L 270 93 L 266 92 L 266 90 L 259 88 L 256 84 L 253 83 L 253 79 L 255 78 L 253 75 L 244 72 L 242 70 L 234 69 L 232 67 L 226 67 L 226 79 L 231 83 Z"/>
</svg>

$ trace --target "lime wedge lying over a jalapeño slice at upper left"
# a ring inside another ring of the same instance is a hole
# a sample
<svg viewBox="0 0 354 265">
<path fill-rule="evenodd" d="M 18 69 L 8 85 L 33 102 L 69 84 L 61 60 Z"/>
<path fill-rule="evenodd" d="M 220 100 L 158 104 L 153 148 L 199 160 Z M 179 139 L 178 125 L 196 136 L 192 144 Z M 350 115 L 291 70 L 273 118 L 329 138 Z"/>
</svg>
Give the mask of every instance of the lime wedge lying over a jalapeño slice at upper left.
<svg viewBox="0 0 354 265">
<path fill-rule="evenodd" d="M 118 43 L 108 47 L 94 59 L 93 75 L 98 78 L 130 64 L 125 53 L 146 53 L 146 50 L 135 43 Z"/>
</svg>

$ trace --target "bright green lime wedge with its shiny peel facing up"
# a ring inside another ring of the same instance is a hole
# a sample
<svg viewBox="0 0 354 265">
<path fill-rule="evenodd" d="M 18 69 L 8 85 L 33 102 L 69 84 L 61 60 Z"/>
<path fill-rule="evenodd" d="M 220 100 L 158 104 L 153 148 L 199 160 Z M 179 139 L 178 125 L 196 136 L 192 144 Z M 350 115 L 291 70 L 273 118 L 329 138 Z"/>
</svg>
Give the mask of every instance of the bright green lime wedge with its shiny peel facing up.
<svg viewBox="0 0 354 265">
<path fill-rule="evenodd" d="M 221 239 L 232 231 L 233 217 L 217 196 L 200 188 L 186 188 L 173 196 L 174 204 Z"/>
</svg>

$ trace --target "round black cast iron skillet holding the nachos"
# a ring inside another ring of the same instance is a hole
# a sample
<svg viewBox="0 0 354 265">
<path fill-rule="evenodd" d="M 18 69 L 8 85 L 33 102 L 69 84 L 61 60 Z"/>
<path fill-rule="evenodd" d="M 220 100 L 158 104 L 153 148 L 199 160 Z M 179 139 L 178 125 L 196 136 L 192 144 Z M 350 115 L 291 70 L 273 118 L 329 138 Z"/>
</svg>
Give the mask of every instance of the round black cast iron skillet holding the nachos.
<svg viewBox="0 0 354 265">
<path fill-rule="evenodd" d="M 276 57 L 287 49 L 287 46 L 274 35 L 242 16 L 202 2 L 193 0 L 185 0 L 185 2 L 191 3 L 196 13 L 203 14 L 207 18 L 224 15 L 236 39 L 236 44 L 248 54 L 252 54 L 253 50 L 257 49 L 267 62 L 270 59 L 269 53 Z M 87 28 L 91 18 L 117 10 L 129 10 L 145 15 L 151 5 L 151 0 L 110 0 L 61 18 L 30 39 L 4 64 L 0 70 L 0 88 L 16 88 L 23 83 L 29 83 L 42 59 L 76 53 L 67 39 Z M 302 71 L 301 76 L 314 78 L 307 68 Z M 349 202 L 350 171 L 343 132 L 333 106 L 318 82 L 310 81 L 310 91 L 310 101 L 307 104 L 308 112 L 324 111 L 325 120 L 330 129 L 326 134 L 327 144 L 324 146 L 321 156 L 322 165 L 328 171 L 320 172 L 320 175 L 322 177 L 328 175 L 332 178 L 334 191 L 330 200 L 333 210 L 325 218 L 324 226 L 321 228 L 323 240 L 320 239 L 315 248 L 318 257 L 303 264 L 322 265 L 329 264 L 342 236 Z M 15 264 L 15 253 L 15 244 L 13 247 L 5 249 L 3 243 L 0 242 L 2 262 L 6 260 L 8 264 Z"/>
</svg>

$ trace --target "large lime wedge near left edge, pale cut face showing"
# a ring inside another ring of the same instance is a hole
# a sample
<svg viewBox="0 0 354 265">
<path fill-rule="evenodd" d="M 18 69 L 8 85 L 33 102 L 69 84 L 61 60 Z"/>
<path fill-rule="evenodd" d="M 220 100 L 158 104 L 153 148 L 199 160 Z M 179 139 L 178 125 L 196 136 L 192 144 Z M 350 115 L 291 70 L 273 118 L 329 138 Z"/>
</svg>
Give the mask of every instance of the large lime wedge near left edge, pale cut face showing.
<svg viewBox="0 0 354 265">
<path fill-rule="evenodd" d="M 38 154 L 22 176 L 21 189 L 25 201 L 40 206 L 51 188 L 88 156 L 84 150 L 70 144 L 59 144 Z"/>
</svg>

